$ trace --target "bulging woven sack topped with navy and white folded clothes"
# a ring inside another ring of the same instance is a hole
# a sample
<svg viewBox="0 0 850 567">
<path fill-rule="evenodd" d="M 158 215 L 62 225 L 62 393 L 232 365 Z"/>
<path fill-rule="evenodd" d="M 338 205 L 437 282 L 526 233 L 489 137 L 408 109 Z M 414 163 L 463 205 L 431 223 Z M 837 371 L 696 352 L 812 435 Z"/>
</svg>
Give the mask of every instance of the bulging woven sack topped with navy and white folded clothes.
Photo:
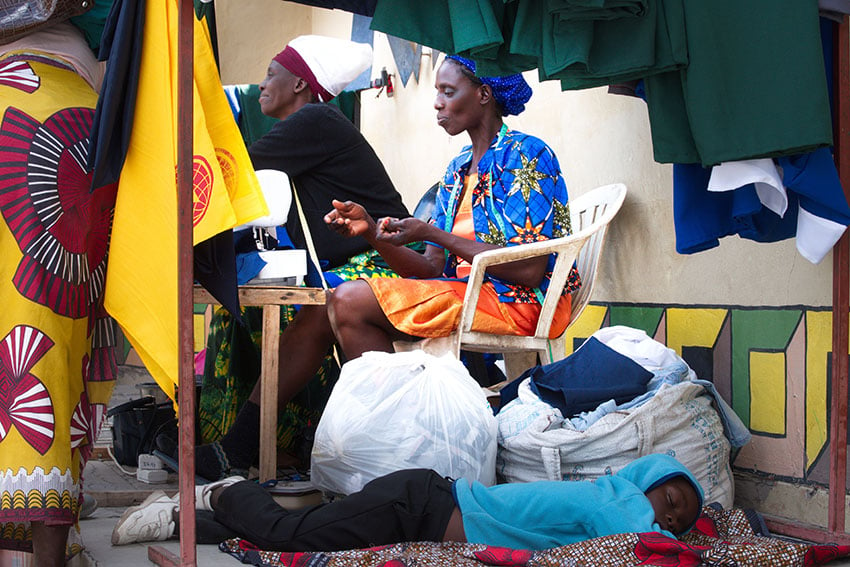
<svg viewBox="0 0 850 567">
<path fill-rule="evenodd" d="M 496 416 L 500 481 L 593 479 L 666 453 L 694 473 L 707 503 L 732 506 L 730 455 L 749 432 L 713 387 L 643 331 L 602 329 L 502 393 L 514 398 L 503 398 Z"/>
</svg>

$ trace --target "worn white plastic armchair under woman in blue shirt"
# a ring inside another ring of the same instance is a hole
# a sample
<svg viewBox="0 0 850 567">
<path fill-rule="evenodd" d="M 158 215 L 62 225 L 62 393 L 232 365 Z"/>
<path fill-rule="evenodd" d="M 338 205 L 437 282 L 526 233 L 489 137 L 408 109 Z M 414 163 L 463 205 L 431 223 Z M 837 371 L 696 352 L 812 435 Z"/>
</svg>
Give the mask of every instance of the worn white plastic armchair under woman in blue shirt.
<svg viewBox="0 0 850 567">
<path fill-rule="evenodd" d="M 570 199 L 570 219 L 573 230 L 570 236 L 488 250 L 476 255 L 472 262 L 472 272 L 469 275 L 458 330 L 444 339 L 426 339 L 416 343 L 396 345 L 397 350 L 422 348 L 434 354 L 449 351 L 455 356 L 460 355 L 461 349 L 473 352 L 500 352 L 504 355 L 505 370 L 509 379 L 519 376 L 527 368 L 537 364 L 538 355 L 542 364 L 564 358 L 566 330 L 559 337 L 548 338 L 561 291 L 566 284 L 570 268 L 575 262 L 582 285 L 572 297 L 572 315 L 569 323 L 572 325 L 590 301 L 608 224 L 620 210 L 625 198 L 626 186 L 622 183 L 597 187 Z M 494 335 L 470 330 L 487 267 L 552 253 L 557 253 L 558 257 L 533 336 Z"/>
</svg>

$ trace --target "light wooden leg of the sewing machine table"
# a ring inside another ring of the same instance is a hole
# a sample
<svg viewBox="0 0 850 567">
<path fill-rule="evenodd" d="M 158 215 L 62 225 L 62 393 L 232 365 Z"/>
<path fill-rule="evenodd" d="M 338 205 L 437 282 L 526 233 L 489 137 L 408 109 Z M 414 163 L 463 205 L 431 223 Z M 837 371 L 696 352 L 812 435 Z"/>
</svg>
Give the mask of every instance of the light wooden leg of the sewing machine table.
<svg viewBox="0 0 850 567">
<path fill-rule="evenodd" d="M 277 374 L 280 305 L 263 307 L 260 370 L 260 482 L 277 478 Z"/>
</svg>

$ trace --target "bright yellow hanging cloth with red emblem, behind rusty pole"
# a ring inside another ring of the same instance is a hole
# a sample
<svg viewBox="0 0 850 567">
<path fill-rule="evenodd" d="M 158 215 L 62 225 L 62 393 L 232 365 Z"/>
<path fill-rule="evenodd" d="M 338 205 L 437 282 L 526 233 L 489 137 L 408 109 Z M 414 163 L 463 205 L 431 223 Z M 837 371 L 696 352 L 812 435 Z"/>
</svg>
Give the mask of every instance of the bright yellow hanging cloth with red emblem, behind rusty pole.
<svg viewBox="0 0 850 567">
<path fill-rule="evenodd" d="M 146 2 L 130 149 L 118 182 L 105 306 L 169 395 L 177 342 L 177 6 Z M 268 214 L 212 59 L 195 22 L 193 243 Z M 188 275 L 188 274 L 187 274 Z M 191 276 L 190 276 L 191 277 Z"/>
</svg>

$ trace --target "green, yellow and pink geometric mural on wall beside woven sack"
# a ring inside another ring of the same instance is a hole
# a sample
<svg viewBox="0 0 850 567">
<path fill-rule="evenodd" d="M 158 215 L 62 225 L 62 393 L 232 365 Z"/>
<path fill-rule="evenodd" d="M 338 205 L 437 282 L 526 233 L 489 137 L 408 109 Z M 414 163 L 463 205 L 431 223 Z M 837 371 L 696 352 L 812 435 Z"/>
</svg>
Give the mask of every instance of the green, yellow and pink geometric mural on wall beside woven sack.
<svg viewBox="0 0 850 567">
<path fill-rule="evenodd" d="M 829 483 L 829 308 L 595 304 L 570 328 L 567 354 L 612 325 L 645 331 L 715 384 L 753 433 L 734 468 Z"/>
</svg>

